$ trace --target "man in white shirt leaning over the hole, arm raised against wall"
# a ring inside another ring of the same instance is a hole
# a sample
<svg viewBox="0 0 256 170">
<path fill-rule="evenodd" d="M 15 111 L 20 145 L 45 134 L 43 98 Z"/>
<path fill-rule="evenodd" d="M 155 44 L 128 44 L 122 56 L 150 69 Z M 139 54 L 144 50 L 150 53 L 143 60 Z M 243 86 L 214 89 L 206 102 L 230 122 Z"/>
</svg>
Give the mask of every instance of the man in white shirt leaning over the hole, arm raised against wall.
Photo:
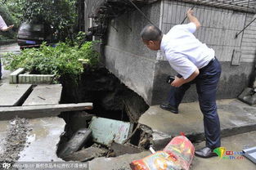
<svg viewBox="0 0 256 170">
<path fill-rule="evenodd" d="M 150 50 L 161 49 L 164 51 L 169 64 L 178 73 L 171 83 L 173 88 L 168 95 L 168 102 L 160 105 L 162 109 L 177 114 L 178 105 L 181 103 L 186 90 L 191 86 L 191 83 L 196 84 L 200 110 L 204 114 L 206 146 L 200 150 L 195 150 L 195 155 L 209 158 L 217 156 L 213 150 L 221 145 L 220 123 L 216 105 L 221 66 L 214 57 L 213 49 L 195 38 L 193 33 L 200 28 L 200 22 L 193 16 L 193 11 L 188 10 L 186 16 L 190 23 L 175 25 L 168 34 L 162 34 L 154 25 L 147 25 L 141 31 L 141 39 Z"/>
</svg>

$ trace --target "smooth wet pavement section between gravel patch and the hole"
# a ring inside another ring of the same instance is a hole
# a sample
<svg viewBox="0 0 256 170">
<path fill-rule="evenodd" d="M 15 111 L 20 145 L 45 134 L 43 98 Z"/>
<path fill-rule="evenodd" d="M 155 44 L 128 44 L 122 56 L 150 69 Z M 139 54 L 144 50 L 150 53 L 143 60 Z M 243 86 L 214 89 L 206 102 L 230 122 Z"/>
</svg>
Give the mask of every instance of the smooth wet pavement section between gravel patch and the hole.
<svg viewBox="0 0 256 170">
<path fill-rule="evenodd" d="M 56 155 L 65 121 L 60 118 L 29 119 L 33 129 L 28 136 L 28 147 L 20 152 L 18 162 L 62 162 Z"/>
</svg>

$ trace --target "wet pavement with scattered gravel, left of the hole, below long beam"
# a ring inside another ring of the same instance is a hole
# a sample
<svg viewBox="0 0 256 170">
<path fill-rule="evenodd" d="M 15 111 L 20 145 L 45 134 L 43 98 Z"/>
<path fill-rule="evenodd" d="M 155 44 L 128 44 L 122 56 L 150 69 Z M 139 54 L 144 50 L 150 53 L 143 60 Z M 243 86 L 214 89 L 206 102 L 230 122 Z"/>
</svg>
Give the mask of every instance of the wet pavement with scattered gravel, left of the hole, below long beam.
<svg viewBox="0 0 256 170">
<path fill-rule="evenodd" d="M 0 121 L 0 162 L 61 162 L 56 155 L 65 121 L 61 118 Z"/>
</svg>

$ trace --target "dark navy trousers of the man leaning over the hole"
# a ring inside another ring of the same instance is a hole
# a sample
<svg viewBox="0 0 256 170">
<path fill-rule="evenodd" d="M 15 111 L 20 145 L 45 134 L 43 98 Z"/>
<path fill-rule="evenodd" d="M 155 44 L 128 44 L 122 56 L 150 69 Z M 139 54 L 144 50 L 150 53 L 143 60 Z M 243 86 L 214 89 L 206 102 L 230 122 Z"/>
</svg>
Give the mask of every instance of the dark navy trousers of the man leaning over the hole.
<svg viewBox="0 0 256 170">
<path fill-rule="evenodd" d="M 204 114 L 206 146 L 212 149 L 221 145 L 220 123 L 216 105 L 217 85 L 221 72 L 222 69 L 218 60 L 211 60 L 208 65 L 200 69 L 200 74 L 193 81 L 185 83 L 181 87 L 172 87 L 168 94 L 169 104 L 178 107 L 186 90 L 191 87 L 192 83 L 196 84 L 200 110 Z"/>
</svg>

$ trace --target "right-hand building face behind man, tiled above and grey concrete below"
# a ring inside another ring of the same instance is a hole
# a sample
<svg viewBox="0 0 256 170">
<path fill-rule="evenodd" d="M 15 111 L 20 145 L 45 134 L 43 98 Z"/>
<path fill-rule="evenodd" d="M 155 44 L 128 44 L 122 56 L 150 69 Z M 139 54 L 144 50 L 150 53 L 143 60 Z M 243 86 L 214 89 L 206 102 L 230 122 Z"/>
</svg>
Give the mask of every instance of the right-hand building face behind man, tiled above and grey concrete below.
<svg viewBox="0 0 256 170">
<path fill-rule="evenodd" d="M 162 5 L 163 15 L 161 29 L 164 34 L 173 25 L 178 25 L 185 17 L 185 12 L 191 4 L 165 0 Z M 195 16 L 200 20 L 201 28 L 195 32 L 195 37 L 201 42 L 212 47 L 222 65 L 222 76 L 218 87 L 218 99 L 233 98 L 242 92 L 249 84 L 249 76 L 254 70 L 256 52 L 256 27 L 255 24 L 245 29 L 244 34 L 235 38 L 236 33 L 253 20 L 252 14 L 232 11 L 216 7 L 196 6 Z M 186 22 L 187 23 L 187 20 Z M 240 65 L 231 65 L 233 50 L 241 51 Z M 176 74 L 170 68 L 164 56 L 158 57 L 155 66 L 155 82 L 153 87 L 153 100 L 151 105 L 164 101 L 170 87 L 164 83 L 168 74 Z M 164 96 L 164 97 L 163 97 Z M 192 86 L 184 97 L 183 102 L 196 101 L 195 86 Z"/>
</svg>

